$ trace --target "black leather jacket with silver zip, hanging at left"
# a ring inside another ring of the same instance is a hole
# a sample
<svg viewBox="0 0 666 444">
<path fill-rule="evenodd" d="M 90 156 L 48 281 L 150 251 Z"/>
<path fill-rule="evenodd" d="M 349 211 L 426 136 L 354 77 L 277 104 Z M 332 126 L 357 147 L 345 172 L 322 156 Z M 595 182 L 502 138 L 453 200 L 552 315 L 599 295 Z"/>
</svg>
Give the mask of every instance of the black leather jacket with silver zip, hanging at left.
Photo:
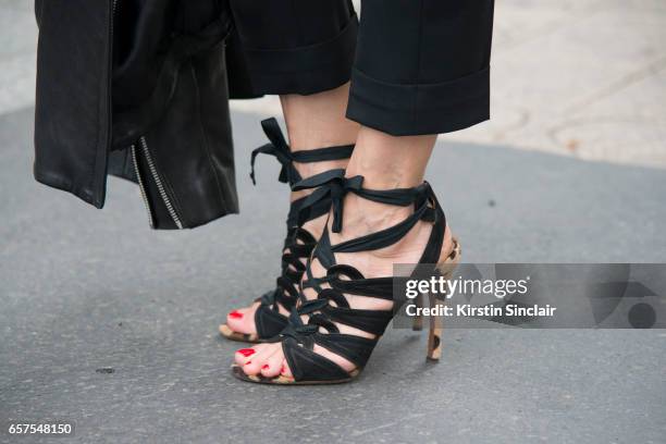
<svg viewBox="0 0 666 444">
<path fill-rule="evenodd" d="M 252 95 L 225 1 L 36 0 L 35 9 L 35 178 L 97 208 L 107 174 L 130 178 L 155 229 L 237 212 L 229 91 Z"/>
</svg>

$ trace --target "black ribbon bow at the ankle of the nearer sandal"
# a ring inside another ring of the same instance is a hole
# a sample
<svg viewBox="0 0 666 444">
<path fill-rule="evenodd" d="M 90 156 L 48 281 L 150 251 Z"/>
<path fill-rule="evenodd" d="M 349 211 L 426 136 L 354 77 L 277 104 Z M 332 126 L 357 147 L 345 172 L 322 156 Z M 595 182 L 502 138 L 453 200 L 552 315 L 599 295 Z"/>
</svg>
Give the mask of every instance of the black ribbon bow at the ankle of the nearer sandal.
<svg viewBox="0 0 666 444">
<path fill-rule="evenodd" d="M 331 199 L 333 208 L 333 233 L 342 231 L 343 202 L 348 192 L 357 193 L 362 188 L 363 176 L 345 177 L 345 170 L 331 170 L 316 174 L 296 183 L 292 190 L 317 188 L 304 200 L 301 211 L 325 199 Z"/>
</svg>

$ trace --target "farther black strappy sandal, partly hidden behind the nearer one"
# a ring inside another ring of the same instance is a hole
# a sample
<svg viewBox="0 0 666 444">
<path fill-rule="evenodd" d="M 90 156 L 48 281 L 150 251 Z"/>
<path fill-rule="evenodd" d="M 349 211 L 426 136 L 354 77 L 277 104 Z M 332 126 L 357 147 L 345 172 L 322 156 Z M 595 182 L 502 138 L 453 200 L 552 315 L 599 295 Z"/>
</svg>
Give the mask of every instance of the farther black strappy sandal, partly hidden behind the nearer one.
<svg viewBox="0 0 666 444">
<path fill-rule="evenodd" d="M 256 184 L 255 160 L 261 153 L 274 156 L 278 159 L 282 164 L 279 181 L 293 186 L 301 181 L 294 162 L 309 163 L 348 159 L 354 151 L 354 145 L 345 145 L 292 152 L 275 119 L 271 118 L 262 121 L 261 126 L 270 143 L 252 151 L 250 177 L 254 184 Z M 330 198 L 319 199 L 317 202 L 308 205 L 307 208 L 303 208 L 306 199 L 307 197 L 297 199 L 289 207 L 286 221 L 287 234 L 282 255 L 282 273 L 276 280 L 275 288 L 255 299 L 255 301 L 260 301 L 255 312 L 257 333 L 238 333 L 230 329 L 229 325 L 221 324 L 219 330 L 224 337 L 232 341 L 260 343 L 275 336 L 287 325 L 287 317 L 279 311 L 279 305 L 287 311 L 295 307 L 298 299 L 298 283 L 305 271 L 301 259 L 309 258 L 317 244 L 317 238 L 307 230 L 304 230 L 303 225 L 324 215 L 331 208 Z"/>
</svg>

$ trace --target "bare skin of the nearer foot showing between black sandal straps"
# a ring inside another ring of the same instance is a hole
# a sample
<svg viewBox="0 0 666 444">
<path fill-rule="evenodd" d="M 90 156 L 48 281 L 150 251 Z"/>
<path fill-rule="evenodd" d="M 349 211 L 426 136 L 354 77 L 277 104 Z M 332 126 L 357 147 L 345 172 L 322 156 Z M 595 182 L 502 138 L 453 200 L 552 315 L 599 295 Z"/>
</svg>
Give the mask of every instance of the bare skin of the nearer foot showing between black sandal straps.
<svg viewBox="0 0 666 444">
<path fill-rule="evenodd" d="M 434 210 L 432 202 L 429 203 L 429 206 Z M 417 211 L 420 210 L 417 209 Z M 332 212 L 329 217 L 328 236 L 324 236 L 326 237 L 325 242 L 328 243 L 330 240 L 331 245 L 337 246 L 351 239 L 358 239 L 361 236 L 379 233 L 383 230 L 396 226 L 414 213 L 414 205 L 397 207 L 394 205 L 385 205 L 382 202 L 368 200 L 367 198 L 355 194 L 347 194 L 344 200 L 344 227 L 341 233 L 333 233 L 331 231 L 331 225 L 333 222 Z M 441 243 L 439 256 L 433 257 L 430 260 L 433 262 L 442 262 L 446 257 L 448 257 L 454 248 L 451 230 L 446 227 L 445 223 L 442 222 L 443 221 L 440 221 L 440 223 L 433 224 L 432 221 L 429 220 L 417 220 L 411 230 L 404 234 L 397 242 L 379 249 L 360 250 L 354 252 L 335 252 L 334 262 L 336 264 L 344 264 L 345 268 L 353 267 L 354 269 L 358 270 L 358 272 L 362 273 L 362 276 L 347 276 L 355 280 L 361 278 L 374 279 L 392 276 L 394 263 L 418 263 L 423 259 L 422 255 L 425 246 L 429 244 L 429 242 L 433 242 L 433 238 L 436 239 L 439 237 L 432 235 L 433 230 L 441 230 L 443 232 L 443 239 L 441 237 L 439 239 Z M 318 246 L 317 248 L 320 247 Z M 323 267 L 321 259 L 318 258 L 313 258 L 309 266 L 311 276 L 313 278 L 325 276 L 328 273 L 326 269 L 332 269 L 332 264 Z M 304 285 L 305 288 L 301 292 L 303 300 L 312 301 L 318 298 L 318 295 L 323 294 L 322 289 L 325 292 L 324 288 L 331 288 L 329 283 L 322 283 L 318 291 L 316 288 L 317 285 L 310 286 L 307 284 L 308 280 L 308 275 L 304 276 L 304 283 L 306 283 L 306 285 Z M 360 293 L 362 294 L 362 292 Z M 390 295 L 387 298 L 378 298 L 358 294 L 343 294 L 346 303 L 329 300 L 329 304 L 333 307 L 338 307 L 340 304 L 348 304 L 349 308 L 354 310 L 373 310 L 375 312 L 381 312 L 380 317 L 383 316 L 386 318 L 385 323 L 387 323 L 387 319 L 391 318 L 393 300 L 391 299 Z M 321 296 L 319 296 L 319 298 L 321 299 Z M 316 317 L 321 314 L 321 312 L 316 310 L 308 314 L 301 316 L 303 323 L 308 324 L 309 319 L 313 317 L 312 314 Z M 378 329 L 378 326 L 372 326 L 369 329 L 361 328 L 361 322 L 358 324 L 359 328 L 355 328 L 349 325 L 349 323 L 354 323 L 354 321 L 346 321 L 344 323 L 333 322 L 338 331 L 336 333 L 363 337 L 372 341 L 378 337 L 378 334 L 368 332 L 368 330 Z M 322 322 L 322 324 L 325 324 L 325 322 Z M 383 331 L 383 329 L 380 330 Z M 328 333 L 328 329 L 319 326 L 319 332 Z M 329 346 L 328 348 L 324 348 L 316 343 L 312 349 L 316 354 L 340 366 L 340 368 L 347 373 L 353 374 L 355 370 L 359 370 L 358 362 L 353 362 L 350 359 L 343 357 L 341 354 L 331 351 L 331 348 L 334 347 Z M 281 342 L 260 344 L 251 348 L 240 349 L 236 351 L 234 360 L 246 375 L 261 375 L 264 379 L 282 377 L 280 378 L 281 380 L 289 380 L 293 378 L 292 369 L 284 356 L 284 349 Z"/>
</svg>

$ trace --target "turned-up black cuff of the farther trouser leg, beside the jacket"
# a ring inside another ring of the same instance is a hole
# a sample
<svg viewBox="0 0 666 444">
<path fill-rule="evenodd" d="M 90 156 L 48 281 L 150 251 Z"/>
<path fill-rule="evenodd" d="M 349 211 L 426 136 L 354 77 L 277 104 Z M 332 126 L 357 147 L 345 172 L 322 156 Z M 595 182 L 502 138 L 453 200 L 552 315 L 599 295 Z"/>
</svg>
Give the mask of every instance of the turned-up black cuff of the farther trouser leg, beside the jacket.
<svg viewBox="0 0 666 444">
<path fill-rule="evenodd" d="M 351 16 L 343 30 L 317 45 L 287 49 L 245 48 L 258 95 L 310 95 L 349 82 L 356 51 L 358 18 Z"/>
</svg>

